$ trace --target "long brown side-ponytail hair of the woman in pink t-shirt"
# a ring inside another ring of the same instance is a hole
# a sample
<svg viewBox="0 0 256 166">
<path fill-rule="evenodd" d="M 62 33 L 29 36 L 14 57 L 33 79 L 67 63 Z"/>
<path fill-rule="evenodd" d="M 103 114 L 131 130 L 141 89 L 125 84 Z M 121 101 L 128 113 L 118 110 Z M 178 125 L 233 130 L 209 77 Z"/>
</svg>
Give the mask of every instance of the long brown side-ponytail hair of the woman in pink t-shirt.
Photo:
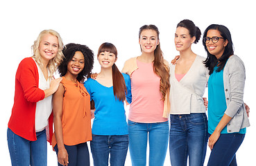
<svg viewBox="0 0 256 166">
<path fill-rule="evenodd" d="M 157 33 L 157 39 L 159 39 L 159 30 L 155 25 L 145 25 L 139 28 L 139 37 L 143 30 L 155 30 Z M 160 77 L 160 92 L 162 93 L 162 99 L 165 100 L 165 95 L 170 88 L 170 73 L 169 66 L 164 64 L 164 57 L 162 56 L 162 50 L 160 48 L 160 43 L 154 50 L 154 61 L 153 61 L 153 69 L 154 72 Z"/>
</svg>

